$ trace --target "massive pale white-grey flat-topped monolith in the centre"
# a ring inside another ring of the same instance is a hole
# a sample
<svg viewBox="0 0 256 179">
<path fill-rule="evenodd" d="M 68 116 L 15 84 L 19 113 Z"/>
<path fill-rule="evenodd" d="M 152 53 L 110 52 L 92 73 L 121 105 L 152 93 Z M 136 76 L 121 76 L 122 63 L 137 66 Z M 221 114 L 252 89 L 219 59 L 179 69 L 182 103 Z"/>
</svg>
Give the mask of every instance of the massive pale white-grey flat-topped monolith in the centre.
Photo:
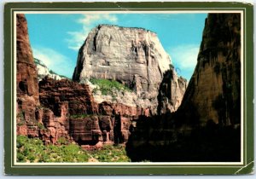
<svg viewBox="0 0 256 179">
<path fill-rule="evenodd" d="M 149 100 L 143 104 L 156 108 L 160 83 L 170 64 L 171 59 L 154 32 L 99 25 L 89 33 L 79 50 L 73 80 L 119 81 L 135 90 L 138 98 Z"/>
</svg>

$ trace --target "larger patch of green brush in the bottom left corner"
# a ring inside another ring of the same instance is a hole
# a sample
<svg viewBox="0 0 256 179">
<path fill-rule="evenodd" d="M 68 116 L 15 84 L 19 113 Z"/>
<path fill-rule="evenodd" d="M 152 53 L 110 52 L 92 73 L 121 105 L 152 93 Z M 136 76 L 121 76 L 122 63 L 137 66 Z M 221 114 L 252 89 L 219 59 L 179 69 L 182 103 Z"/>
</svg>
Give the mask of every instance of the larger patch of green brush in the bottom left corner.
<svg viewBox="0 0 256 179">
<path fill-rule="evenodd" d="M 89 159 L 76 144 L 45 146 L 43 141 L 26 136 L 17 136 L 16 149 L 17 162 L 87 162 Z"/>
</svg>

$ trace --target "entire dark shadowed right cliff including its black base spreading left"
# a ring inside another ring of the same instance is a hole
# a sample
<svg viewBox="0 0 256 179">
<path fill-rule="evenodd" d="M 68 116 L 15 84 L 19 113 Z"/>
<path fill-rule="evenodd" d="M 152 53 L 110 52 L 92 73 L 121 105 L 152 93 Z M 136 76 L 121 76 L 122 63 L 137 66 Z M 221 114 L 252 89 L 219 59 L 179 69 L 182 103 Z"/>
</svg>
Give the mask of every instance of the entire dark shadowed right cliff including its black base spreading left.
<svg viewBox="0 0 256 179">
<path fill-rule="evenodd" d="M 241 16 L 208 14 L 181 106 L 139 118 L 126 151 L 132 161 L 238 162 L 240 124 Z"/>
</svg>

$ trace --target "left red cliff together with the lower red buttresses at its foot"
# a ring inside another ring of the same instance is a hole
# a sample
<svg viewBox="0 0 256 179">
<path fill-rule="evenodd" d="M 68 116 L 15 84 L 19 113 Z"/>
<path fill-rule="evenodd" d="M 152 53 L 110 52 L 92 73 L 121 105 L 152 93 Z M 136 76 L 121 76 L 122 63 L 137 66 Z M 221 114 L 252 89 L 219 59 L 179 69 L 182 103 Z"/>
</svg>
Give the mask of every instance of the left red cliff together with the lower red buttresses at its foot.
<svg viewBox="0 0 256 179">
<path fill-rule="evenodd" d="M 40 137 L 45 143 L 56 143 L 60 137 L 72 141 L 68 134 L 67 104 L 58 104 L 58 117 L 40 106 L 38 72 L 24 14 L 16 15 L 16 44 L 16 134 Z"/>
</svg>

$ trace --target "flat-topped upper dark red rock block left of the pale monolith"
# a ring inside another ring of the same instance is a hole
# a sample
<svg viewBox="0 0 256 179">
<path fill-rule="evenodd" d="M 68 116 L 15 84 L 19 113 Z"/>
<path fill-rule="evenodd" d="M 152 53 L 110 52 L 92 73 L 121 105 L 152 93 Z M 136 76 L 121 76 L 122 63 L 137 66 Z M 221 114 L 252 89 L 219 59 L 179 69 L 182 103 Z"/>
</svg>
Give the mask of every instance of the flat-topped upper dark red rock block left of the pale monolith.
<svg viewBox="0 0 256 179">
<path fill-rule="evenodd" d="M 88 85 L 74 83 L 68 79 L 55 80 L 45 77 L 39 82 L 40 103 L 49 107 L 55 116 L 60 116 L 59 105 L 67 101 L 70 115 L 96 113 L 95 103 Z"/>
</svg>

